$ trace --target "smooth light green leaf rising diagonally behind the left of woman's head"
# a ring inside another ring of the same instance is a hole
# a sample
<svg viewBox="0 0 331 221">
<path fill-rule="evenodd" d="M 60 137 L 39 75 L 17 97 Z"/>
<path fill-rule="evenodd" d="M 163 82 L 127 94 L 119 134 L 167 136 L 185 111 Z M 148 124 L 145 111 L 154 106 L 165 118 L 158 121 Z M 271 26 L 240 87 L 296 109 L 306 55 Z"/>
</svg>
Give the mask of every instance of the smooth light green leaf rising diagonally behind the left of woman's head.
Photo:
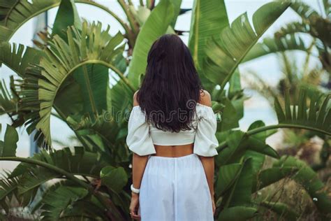
<svg viewBox="0 0 331 221">
<path fill-rule="evenodd" d="M 172 17 L 172 3 L 170 0 L 161 0 L 142 25 L 135 42 L 128 72 L 128 79 L 135 88 L 138 88 L 140 84 L 140 75 L 145 73 L 149 49 L 157 38 L 165 34 Z"/>
</svg>

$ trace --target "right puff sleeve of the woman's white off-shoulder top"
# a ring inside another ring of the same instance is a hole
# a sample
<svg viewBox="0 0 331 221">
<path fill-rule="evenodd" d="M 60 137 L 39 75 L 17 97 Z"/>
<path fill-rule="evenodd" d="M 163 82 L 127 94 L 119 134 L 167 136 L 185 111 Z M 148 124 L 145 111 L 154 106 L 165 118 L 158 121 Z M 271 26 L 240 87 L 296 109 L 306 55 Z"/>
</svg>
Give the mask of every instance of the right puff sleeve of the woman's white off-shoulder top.
<svg viewBox="0 0 331 221">
<path fill-rule="evenodd" d="M 204 157 L 218 155 L 216 147 L 219 141 L 216 138 L 217 120 L 212 107 L 202 106 L 198 113 L 198 128 L 194 141 L 193 152 Z"/>
</svg>

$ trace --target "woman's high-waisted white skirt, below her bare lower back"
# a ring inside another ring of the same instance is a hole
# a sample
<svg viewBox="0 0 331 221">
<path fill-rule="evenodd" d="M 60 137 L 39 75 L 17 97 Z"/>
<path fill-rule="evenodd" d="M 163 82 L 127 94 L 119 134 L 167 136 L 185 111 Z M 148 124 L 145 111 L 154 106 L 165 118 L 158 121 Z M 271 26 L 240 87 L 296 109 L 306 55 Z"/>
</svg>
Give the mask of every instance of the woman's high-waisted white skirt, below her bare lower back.
<svg viewBox="0 0 331 221">
<path fill-rule="evenodd" d="M 212 197 L 196 154 L 149 155 L 140 185 L 141 221 L 212 221 Z"/>
</svg>

